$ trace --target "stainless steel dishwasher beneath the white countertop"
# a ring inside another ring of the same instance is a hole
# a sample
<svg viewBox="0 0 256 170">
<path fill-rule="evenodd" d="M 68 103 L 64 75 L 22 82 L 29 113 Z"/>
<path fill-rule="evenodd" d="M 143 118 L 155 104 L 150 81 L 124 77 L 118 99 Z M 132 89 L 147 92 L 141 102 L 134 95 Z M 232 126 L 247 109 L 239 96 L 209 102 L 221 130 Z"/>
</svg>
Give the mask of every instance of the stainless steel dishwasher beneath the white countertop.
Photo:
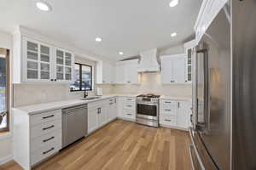
<svg viewBox="0 0 256 170">
<path fill-rule="evenodd" d="M 87 135 L 87 105 L 62 110 L 62 148 Z"/>
</svg>

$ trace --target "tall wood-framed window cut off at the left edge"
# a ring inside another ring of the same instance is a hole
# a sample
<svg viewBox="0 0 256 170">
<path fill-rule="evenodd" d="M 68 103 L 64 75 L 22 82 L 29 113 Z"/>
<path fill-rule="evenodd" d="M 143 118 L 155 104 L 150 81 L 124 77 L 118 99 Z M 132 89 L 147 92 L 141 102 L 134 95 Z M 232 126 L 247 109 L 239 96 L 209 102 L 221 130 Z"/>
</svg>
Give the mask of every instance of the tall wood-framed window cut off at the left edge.
<svg viewBox="0 0 256 170">
<path fill-rule="evenodd" d="M 0 132 L 9 130 L 9 50 L 0 48 Z"/>
</svg>

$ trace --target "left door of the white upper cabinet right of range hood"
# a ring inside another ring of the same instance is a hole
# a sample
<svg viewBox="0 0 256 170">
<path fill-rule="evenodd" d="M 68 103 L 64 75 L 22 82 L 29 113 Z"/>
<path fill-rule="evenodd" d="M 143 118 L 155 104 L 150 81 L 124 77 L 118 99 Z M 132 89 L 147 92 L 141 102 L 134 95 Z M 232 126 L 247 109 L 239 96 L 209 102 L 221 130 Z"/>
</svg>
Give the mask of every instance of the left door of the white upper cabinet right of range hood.
<svg viewBox="0 0 256 170">
<path fill-rule="evenodd" d="M 161 82 L 162 83 L 171 83 L 172 79 L 172 58 L 161 59 Z"/>
</svg>

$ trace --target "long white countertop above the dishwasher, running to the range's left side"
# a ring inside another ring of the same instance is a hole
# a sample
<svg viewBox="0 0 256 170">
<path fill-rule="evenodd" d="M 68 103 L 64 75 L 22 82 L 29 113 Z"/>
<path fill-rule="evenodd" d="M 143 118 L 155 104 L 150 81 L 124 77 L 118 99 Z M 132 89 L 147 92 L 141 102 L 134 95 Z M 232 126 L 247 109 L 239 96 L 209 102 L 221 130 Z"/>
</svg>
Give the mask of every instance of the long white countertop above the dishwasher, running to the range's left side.
<svg viewBox="0 0 256 170">
<path fill-rule="evenodd" d="M 44 111 L 53 111 L 56 109 L 63 109 L 67 107 L 72 107 L 75 105 L 83 105 L 88 104 L 90 102 L 99 101 L 102 99 L 108 99 L 118 96 L 124 96 L 124 97 L 136 97 L 137 94 L 109 94 L 109 95 L 103 95 L 99 99 L 90 99 L 90 100 L 82 100 L 82 99 L 68 99 L 68 100 L 62 100 L 62 101 L 55 101 L 55 102 L 49 102 L 44 104 L 38 104 L 38 105 L 26 105 L 26 106 L 20 106 L 13 108 L 14 111 L 22 111 L 29 115 L 38 114 Z"/>
</svg>

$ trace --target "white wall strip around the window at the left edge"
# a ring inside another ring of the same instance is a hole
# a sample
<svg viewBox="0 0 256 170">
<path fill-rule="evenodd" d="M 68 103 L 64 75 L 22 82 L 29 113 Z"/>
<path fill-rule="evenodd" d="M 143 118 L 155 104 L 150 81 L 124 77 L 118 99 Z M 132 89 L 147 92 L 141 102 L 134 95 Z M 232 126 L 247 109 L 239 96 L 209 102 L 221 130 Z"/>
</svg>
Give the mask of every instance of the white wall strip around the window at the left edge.
<svg viewBox="0 0 256 170">
<path fill-rule="evenodd" d="M 10 49 L 10 60 L 11 60 L 12 59 L 12 52 L 11 52 L 12 37 L 10 34 L 0 31 L 0 48 L 9 48 Z M 10 86 L 10 88 L 11 88 L 11 86 Z M 12 90 L 10 90 L 10 93 L 11 92 L 12 92 Z M 10 99 L 10 102 L 11 101 L 12 101 L 12 99 Z M 10 103 L 10 105 L 12 105 L 12 104 Z M 11 113 L 10 113 L 10 115 L 11 115 Z M 11 118 L 12 118 L 12 116 L 10 116 L 10 120 L 11 120 Z M 12 121 L 10 122 L 10 128 L 12 127 L 11 123 L 12 123 Z M 12 154 L 13 154 L 12 150 L 13 150 L 13 141 L 12 141 L 11 135 L 9 135 L 9 137 L 7 137 L 7 138 L 0 137 L 0 164 L 3 161 L 6 161 L 6 159 L 9 159 L 9 157 L 12 157 Z"/>
</svg>

